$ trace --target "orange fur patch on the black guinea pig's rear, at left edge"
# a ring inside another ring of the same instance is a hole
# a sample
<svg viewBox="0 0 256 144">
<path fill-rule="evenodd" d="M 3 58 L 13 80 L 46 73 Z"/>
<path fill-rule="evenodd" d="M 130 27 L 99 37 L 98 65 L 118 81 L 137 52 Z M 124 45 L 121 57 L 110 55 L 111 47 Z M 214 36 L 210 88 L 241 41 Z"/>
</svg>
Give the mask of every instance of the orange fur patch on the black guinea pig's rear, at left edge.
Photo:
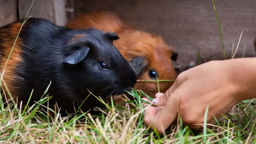
<svg viewBox="0 0 256 144">
<path fill-rule="evenodd" d="M 4 81 L 6 82 L 7 88 L 10 90 L 13 99 L 16 101 L 17 95 L 15 92 L 15 88 L 12 86 L 12 83 L 16 81 L 15 74 L 13 73 L 16 69 L 16 66 L 18 63 L 22 61 L 22 58 L 20 57 L 20 45 L 22 45 L 20 39 L 18 38 L 14 48 L 12 50 L 13 44 L 15 42 L 16 37 L 18 36 L 19 30 L 21 28 L 22 23 L 13 23 L 11 24 L 11 28 L 0 28 L 0 38 L 1 38 L 1 57 L 0 57 L 0 68 L 1 73 L 3 74 Z M 12 50 L 12 53 L 11 53 Z M 7 62 L 7 65 L 4 69 L 5 63 L 11 53 L 11 56 Z M 4 69 L 4 73 L 3 73 Z M 1 84 L 4 87 L 3 81 Z M 8 93 L 5 92 L 5 94 L 8 96 Z"/>
</svg>

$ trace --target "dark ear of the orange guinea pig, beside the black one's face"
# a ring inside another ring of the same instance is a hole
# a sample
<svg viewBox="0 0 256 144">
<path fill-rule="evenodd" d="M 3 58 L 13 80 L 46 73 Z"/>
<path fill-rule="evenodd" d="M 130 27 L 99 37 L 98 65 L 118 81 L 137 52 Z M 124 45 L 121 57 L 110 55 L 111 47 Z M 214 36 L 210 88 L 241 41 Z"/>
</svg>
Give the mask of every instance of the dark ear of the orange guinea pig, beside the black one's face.
<svg viewBox="0 0 256 144">
<path fill-rule="evenodd" d="M 148 66 L 148 59 L 144 57 L 135 57 L 129 61 L 137 76 L 140 76 Z"/>
</svg>

